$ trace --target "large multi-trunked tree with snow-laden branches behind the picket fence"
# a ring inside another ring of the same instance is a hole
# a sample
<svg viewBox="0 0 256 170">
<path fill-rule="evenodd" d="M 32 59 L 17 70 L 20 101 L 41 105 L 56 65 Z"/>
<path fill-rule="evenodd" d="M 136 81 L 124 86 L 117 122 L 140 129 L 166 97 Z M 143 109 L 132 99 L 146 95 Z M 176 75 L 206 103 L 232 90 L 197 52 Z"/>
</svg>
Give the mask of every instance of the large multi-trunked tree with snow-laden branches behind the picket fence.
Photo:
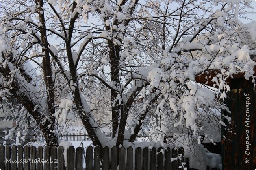
<svg viewBox="0 0 256 170">
<path fill-rule="evenodd" d="M 0 94 L 22 104 L 48 145 L 58 145 L 55 122 L 70 110 L 95 146 L 132 143 L 145 122 L 200 143 L 205 122 L 223 122 L 227 78 L 254 82 L 256 23 L 240 21 L 251 0 L 0 3 Z M 195 81 L 204 73 L 216 89 Z M 110 121 L 97 122 L 96 110 Z M 101 131 L 110 123 L 111 141 Z"/>
</svg>

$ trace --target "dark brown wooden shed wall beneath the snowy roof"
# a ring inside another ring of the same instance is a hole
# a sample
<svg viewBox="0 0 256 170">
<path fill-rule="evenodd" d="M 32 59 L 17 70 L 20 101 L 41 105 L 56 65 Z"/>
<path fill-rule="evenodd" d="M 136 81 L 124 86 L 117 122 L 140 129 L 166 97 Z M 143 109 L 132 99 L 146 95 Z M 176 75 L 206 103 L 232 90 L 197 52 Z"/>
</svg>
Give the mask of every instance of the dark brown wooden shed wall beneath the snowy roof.
<svg viewBox="0 0 256 170">
<path fill-rule="evenodd" d="M 255 84 L 252 82 L 252 78 L 250 80 L 245 80 L 244 77 L 238 78 L 237 76 L 237 78 L 231 79 L 229 85 L 230 92 L 227 94 L 227 98 L 225 98 L 224 102 L 229 108 L 230 113 L 221 109 L 221 115 L 223 115 L 223 119 L 224 116 L 230 116 L 232 118 L 232 123 L 224 121 L 227 127 L 221 127 L 221 134 L 222 136 L 225 136 L 225 138 L 222 137 L 221 145 L 222 169 L 254 169 L 256 168 Z M 236 134 L 234 134 L 234 132 L 236 132 Z M 252 145 L 249 147 L 249 144 Z M 245 150 L 245 148 L 247 150 Z M 247 152 L 248 155 L 244 152 Z"/>
</svg>

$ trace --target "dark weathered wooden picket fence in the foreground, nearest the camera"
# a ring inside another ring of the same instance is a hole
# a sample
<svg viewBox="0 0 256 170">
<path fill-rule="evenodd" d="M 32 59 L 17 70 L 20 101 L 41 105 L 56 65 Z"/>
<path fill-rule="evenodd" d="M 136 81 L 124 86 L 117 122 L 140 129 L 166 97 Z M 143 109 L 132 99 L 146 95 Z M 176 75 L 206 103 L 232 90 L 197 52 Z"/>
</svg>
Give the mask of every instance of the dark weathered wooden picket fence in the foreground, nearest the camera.
<svg viewBox="0 0 256 170">
<path fill-rule="evenodd" d="M 62 146 L 45 148 L 39 146 L 0 146 L 0 168 L 2 170 L 83 170 L 83 149 L 67 149 L 65 167 Z M 110 152 L 110 154 L 109 154 Z M 110 155 L 110 157 L 109 157 Z M 86 148 L 85 170 L 189 170 L 189 160 L 184 150 L 167 148 L 108 147 Z M 179 157 L 179 158 L 177 158 Z M 110 160 L 110 161 L 109 161 Z M 186 168 L 185 168 L 186 167 Z"/>
</svg>

